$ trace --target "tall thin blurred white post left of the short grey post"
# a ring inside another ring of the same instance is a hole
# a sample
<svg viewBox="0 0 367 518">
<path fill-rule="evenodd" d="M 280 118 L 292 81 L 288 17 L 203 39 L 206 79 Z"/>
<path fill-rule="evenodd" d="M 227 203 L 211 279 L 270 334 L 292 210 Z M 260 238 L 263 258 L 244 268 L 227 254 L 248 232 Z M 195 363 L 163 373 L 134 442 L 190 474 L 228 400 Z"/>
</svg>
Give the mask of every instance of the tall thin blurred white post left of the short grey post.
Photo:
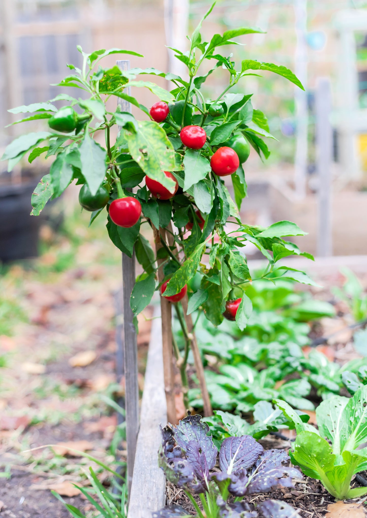
<svg viewBox="0 0 367 518">
<path fill-rule="evenodd" d="M 295 73 L 307 90 L 307 0 L 295 0 L 295 26 L 297 45 L 295 52 Z M 298 198 L 306 195 L 307 177 L 307 93 L 296 87 L 296 156 L 295 191 Z"/>
</svg>

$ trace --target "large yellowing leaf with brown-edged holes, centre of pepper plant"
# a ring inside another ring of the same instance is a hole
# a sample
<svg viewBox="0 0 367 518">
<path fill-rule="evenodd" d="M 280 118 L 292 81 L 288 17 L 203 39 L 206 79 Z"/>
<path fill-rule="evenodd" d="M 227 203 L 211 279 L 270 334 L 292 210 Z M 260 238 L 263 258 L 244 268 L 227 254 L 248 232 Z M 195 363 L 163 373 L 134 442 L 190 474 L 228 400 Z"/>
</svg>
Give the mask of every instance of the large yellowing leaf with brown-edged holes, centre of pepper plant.
<svg viewBox="0 0 367 518">
<path fill-rule="evenodd" d="M 173 193 L 175 182 L 163 171 L 174 169 L 174 149 L 164 129 L 154 121 L 139 121 L 136 133 L 124 131 L 133 159 L 146 175 Z"/>
</svg>

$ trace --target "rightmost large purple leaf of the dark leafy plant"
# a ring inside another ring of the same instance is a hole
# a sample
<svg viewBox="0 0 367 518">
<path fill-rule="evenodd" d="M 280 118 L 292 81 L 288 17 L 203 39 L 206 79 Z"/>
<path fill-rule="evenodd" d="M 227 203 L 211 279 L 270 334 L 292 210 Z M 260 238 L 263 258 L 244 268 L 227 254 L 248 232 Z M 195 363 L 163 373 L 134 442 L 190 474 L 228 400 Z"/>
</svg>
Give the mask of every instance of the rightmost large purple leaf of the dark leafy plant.
<svg viewBox="0 0 367 518">
<path fill-rule="evenodd" d="M 280 487 L 293 487 L 292 477 L 302 478 L 296 468 L 285 466 L 289 456 L 284 450 L 267 450 L 256 463 L 254 475 L 249 477 L 247 493 L 266 493 Z"/>
</svg>

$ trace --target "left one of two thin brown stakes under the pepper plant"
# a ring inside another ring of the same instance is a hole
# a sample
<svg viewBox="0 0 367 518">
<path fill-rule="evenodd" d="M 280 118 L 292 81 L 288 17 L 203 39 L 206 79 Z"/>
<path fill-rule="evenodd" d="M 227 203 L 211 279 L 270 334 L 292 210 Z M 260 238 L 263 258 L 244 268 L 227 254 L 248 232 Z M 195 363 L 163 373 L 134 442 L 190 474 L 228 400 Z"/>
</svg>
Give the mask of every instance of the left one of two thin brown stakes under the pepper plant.
<svg viewBox="0 0 367 518">
<path fill-rule="evenodd" d="M 154 242 L 156 253 L 160 248 L 163 247 L 160 241 L 160 236 L 164 239 L 166 232 L 164 228 L 159 227 L 159 233 L 157 229 L 153 227 Z M 162 282 L 165 275 L 163 273 L 163 267 L 160 265 L 164 262 L 164 259 L 158 259 L 158 280 Z M 162 343 L 163 343 L 163 370 L 165 379 L 165 393 L 167 400 L 167 420 L 169 423 L 176 423 L 176 407 L 174 405 L 174 373 L 173 373 L 173 354 L 172 354 L 172 305 L 164 297 L 160 297 L 160 313 L 162 315 Z"/>
</svg>

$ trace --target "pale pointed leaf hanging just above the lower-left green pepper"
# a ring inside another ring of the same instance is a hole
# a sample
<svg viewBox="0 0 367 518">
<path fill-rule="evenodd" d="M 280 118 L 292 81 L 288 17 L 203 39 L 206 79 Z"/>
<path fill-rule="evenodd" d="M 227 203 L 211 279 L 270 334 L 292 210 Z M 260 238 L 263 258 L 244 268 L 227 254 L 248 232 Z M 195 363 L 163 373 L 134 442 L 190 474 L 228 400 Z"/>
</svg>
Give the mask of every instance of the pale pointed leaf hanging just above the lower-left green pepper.
<svg viewBox="0 0 367 518">
<path fill-rule="evenodd" d="M 84 133 L 79 151 L 81 170 L 92 196 L 94 196 L 106 175 L 107 153 L 105 149 L 89 136 L 87 131 Z"/>
</svg>

